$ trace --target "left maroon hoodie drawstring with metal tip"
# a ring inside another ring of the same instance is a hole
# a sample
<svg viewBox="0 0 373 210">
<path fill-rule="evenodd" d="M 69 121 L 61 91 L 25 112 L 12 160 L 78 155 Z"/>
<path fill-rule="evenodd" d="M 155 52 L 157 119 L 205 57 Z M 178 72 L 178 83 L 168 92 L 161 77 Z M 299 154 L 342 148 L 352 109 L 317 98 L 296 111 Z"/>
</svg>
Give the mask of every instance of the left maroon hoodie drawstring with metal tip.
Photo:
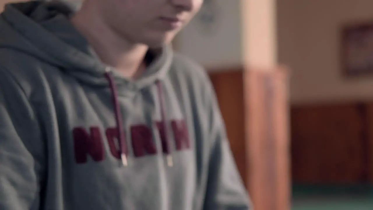
<svg viewBox="0 0 373 210">
<path fill-rule="evenodd" d="M 120 112 L 120 106 L 118 102 L 118 91 L 116 89 L 116 85 L 114 84 L 114 79 L 112 75 L 110 74 L 110 69 L 107 68 L 105 72 L 105 76 L 107 78 L 107 81 L 109 81 L 110 90 L 112 92 L 112 99 L 113 99 L 113 105 L 114 105 L 114 112 L 115 112 L 115 120 L 116 120 L 116 129 L 118 133 L 118 140 L 119 140 L 119 146 L 120 146 L 120 159 L 122 160 L 123 166 L 127 166 L 127 147 L 126 147 L 126 136 L 124 135 L 123 130 L 123 121 L 122 121 L 122 113 Z"/>
</svg>

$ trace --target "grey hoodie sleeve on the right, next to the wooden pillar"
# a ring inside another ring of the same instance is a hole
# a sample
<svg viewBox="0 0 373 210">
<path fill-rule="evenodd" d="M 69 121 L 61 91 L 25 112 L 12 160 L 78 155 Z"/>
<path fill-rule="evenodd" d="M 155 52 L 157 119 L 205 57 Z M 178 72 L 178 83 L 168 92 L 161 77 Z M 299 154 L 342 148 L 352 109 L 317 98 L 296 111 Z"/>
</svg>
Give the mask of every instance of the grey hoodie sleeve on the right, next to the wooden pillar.
<svg viewBox="0 0 373 210">
<path fill-rule="evenodd" d="M 212 145 L 204 210 L 251 210 L 211 83 L 206 98 Z"/>
</svg>

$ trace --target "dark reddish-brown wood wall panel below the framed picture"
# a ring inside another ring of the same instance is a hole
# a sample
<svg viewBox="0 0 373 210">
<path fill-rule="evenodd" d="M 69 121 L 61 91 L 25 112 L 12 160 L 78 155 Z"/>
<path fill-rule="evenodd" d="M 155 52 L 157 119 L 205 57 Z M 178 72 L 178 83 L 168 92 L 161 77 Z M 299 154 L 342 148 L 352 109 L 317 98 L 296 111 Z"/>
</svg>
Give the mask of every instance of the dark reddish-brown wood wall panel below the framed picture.
<svg viewBox="0 0 373 210">
<path fill-rule="evenodd" d="M 354 184 L 366 179 L 361 106 L 329 104 L 291 109 L 295 183 Z"/>
</svg>

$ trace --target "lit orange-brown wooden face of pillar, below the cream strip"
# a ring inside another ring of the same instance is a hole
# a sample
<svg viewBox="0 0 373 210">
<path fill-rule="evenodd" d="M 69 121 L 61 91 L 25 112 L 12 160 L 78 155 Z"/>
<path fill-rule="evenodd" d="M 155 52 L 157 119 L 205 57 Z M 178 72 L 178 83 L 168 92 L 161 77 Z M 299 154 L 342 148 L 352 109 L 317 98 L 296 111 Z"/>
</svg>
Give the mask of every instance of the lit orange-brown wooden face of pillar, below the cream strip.
<svg viewBox="0 0 373 210">
<path fill-rule="evenodd" d="M 248 189 L 256 209 L 289 210 L 287 74 L 279 68 L 246 72 Z"/>
</svg>

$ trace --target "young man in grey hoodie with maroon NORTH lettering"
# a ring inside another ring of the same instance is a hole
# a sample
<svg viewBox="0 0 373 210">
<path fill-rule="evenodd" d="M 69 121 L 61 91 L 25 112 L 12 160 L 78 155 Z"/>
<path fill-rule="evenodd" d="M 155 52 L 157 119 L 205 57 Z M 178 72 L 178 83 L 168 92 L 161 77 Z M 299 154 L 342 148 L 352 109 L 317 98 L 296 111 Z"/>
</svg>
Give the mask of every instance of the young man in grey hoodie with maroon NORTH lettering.
<svg viewBox="0 0 373 210">
<path fill-rule="evenodd" d="M 169 47 L 202 3 L 6 5 L 1 210 L 250 209 L 208 77 Z"/>
</svg>

